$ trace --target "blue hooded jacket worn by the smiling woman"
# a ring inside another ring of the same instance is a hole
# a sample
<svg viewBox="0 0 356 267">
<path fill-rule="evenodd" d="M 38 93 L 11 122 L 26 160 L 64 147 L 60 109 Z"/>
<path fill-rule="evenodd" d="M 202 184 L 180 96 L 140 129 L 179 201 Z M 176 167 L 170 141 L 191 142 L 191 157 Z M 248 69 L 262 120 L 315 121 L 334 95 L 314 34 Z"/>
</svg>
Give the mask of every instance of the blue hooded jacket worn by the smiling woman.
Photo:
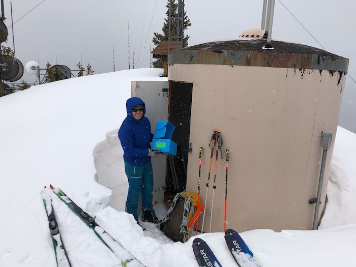
<svg viewBox="0 0 356 267">
<path fill-rule="evenodd" d="M 132 115 L 132 108 L 143 105 L 143 114 L 140 120 L 136 120 Z M 146 109 L 144 102 L 138 97 L 129 98 L 126 101 L 127 117 L 118 130 L 118 138 L 124 149 L 124 160 L 131 165 L 144 165 L 151 160 L 149 149 L 153 134 L 151 124 L 144 116 Z"/>
</svg>

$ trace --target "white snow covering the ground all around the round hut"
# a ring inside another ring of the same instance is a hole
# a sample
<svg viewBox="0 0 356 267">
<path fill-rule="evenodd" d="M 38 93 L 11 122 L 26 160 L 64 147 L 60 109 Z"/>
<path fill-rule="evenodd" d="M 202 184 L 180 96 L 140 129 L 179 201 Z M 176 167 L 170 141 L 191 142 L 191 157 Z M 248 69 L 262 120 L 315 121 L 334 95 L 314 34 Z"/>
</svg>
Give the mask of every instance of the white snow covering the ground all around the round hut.
<svg viewBox="0 0 356 267">
<path fill-rule="evenodd" d="M 130 81 L 167 80 L 159 77 L 161 73 L 159 69 L 135 69 L 84 76 L 0 98 L 0 266 L 56 265 L 40 194 L 49 184 L 62 188 L 85 211 L 96 215 L 99 225 L 144 265 L 198 266 L 191 248 L 193 239 L 173 243 L 149 223 L 145 224 L 147 231 L 142 231 L 120 205 L 128 185 L 115 129 L 126 116 Z M 119 187 L 121 193 L 115 196 L 119 211 L 108 205 L 111 190 L 95 182 L 95 166 L 101 166 L 100 152 L 105 147 L 112 150 L 112 162 L 121 163 L 108 166 L 121 179 L 108 185 Z M 355 156 L 356 135 L 339 127 L 327 208 L 319 230 L 241 233 L 261 266 L 356 265 L 351 257 L 356 251 Z M 54 200 L 53 206 L 74 267 L 121 265 L 117 245 L 110 243 L 114 254 L 63 202 Z M 162 204 L 156 209 L 162 216 Z M 223 266 L 236 266 L 223 233 L 199 237 Z"/>
</svg>

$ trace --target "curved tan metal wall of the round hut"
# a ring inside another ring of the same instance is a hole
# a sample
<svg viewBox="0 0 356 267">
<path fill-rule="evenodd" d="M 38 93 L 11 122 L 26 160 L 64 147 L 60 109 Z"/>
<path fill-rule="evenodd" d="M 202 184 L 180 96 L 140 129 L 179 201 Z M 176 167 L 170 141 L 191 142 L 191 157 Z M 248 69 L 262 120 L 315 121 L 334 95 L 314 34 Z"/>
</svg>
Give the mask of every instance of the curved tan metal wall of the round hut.
<svg viewBox="0 0 356 267">
<path fill-rule="evenodd" d="M 203 146 L 202 203 L 210 137 L 214 129 L 222 133 L 224 155 L 218 160 L 212 231 L 223 231 L 224 226 L 225 149 L 230 150 L 227 228 L 311 229 L 315 204 L 310 205 L 308 200 L 317 192 L 322 156 L 320 134 L 333 134 L 322 211 L 344 74 L 338 84 L 338 72 L 331 75 L 325 70 L 174 64 L 168 73 L 169 80 L 193 83 L 193 151 L 188 159 L 187 190 L 197 191 L 198 153 L 199 146 Z M 209 211 L 212 191 L 211 182 Z M 206 214 L 204 231 L 209 231 L 209 222 Z"/>
</svg>

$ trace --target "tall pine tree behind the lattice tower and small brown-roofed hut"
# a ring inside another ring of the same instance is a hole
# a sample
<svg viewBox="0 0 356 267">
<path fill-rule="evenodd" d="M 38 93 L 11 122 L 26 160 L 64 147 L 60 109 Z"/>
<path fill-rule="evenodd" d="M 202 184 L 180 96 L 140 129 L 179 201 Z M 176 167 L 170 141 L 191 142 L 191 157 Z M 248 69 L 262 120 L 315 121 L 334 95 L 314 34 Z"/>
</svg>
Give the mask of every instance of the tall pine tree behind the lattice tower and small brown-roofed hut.
<svg viewBox="0 0 356 267">
<path fill-rule="evenodd" d="M 169 1 L 167 1 L 167 12 L 166 12 L 166 17 L 164 18 L 164 23 L 163 23 L 163 27 L 162 27 L 162 32 L 163 34 L 159 34 L 159 33 L 154 33 L 155 37 L 152 39 L 152 42 L 155 45 L 158 45 L 161 41 L 168 41 L 168 37 L 169 37 Z M 174 27 L 174 24 L 176 22 L 177 19 L 177 0 L 171 0 L 171 7 L 172 7 L 172 13 L 171 13 L 171 38 L 173 41 L 176 40 L 176 36 L 177 36 L 177 31 L 176 28 Z M 183 29 L 186 30 L 188 28 L 188 26 L 191 26 L 192 23 L 190 22 L 190 18 L 188 18 L 187 12 L 184 11 L 184 22 L 183 22 Z M 184 35 L 184 31 L 183 31 L 183 47 L 188 46 L 188 39 L 189 39 L 189 35 Z M 156 62 L 153 62 L 153 66 L 154 68 L 163 68 L 163 62 L 162 60 L 157 60 Z"/>
</svg>

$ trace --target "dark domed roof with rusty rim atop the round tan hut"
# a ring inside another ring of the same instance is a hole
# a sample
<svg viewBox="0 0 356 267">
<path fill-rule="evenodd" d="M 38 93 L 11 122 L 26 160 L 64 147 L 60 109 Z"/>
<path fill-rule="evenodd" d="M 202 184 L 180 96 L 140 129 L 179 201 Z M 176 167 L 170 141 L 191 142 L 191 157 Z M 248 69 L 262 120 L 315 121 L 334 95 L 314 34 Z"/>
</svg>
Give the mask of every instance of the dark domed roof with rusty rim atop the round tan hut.
<svg viewBox="0 0 356 267">
<path fill-rule="evenodd" d="M 217 41 L 169 53 L 169 64 L 218 64 L 347 72 L 348 59 L 325 50 L 272 40 L 273 50 L 263 50 L 266 39 Z"/>
</svg>

